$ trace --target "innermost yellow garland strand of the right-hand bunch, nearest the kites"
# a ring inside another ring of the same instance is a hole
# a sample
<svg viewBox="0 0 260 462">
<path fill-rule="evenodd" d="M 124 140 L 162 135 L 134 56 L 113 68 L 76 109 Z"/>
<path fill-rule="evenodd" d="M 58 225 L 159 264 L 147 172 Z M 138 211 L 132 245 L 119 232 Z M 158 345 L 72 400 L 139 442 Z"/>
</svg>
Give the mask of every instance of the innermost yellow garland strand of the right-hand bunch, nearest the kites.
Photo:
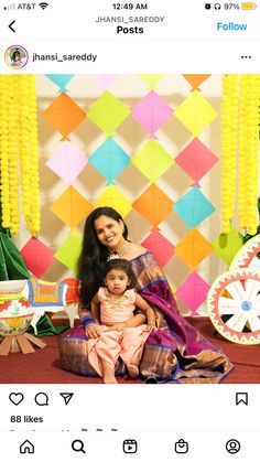
<svg viewBox="0 0 260 462">
<path fill-rule="evenodd" d="M 238 75 L 223 76 L 221 109 L 221 222 L 227 234 L 236 202 Z"/>
</svg>

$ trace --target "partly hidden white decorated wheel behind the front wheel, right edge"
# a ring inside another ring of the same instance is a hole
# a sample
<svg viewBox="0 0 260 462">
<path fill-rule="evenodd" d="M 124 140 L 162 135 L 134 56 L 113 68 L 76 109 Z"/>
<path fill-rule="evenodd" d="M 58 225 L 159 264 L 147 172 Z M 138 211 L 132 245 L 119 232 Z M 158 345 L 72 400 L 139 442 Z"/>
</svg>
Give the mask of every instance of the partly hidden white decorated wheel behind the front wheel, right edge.
<svg viewBox="0 0 260 462">
<path fill-rule="evenodd" d="M 237 253 L 230 265 L 230 270 L 236 268 L 257 268 L 260 270 L 260 258 L 258 258 L 259 253 L 260 235 L 258 234 L 249 239 Z"/>
</svg>

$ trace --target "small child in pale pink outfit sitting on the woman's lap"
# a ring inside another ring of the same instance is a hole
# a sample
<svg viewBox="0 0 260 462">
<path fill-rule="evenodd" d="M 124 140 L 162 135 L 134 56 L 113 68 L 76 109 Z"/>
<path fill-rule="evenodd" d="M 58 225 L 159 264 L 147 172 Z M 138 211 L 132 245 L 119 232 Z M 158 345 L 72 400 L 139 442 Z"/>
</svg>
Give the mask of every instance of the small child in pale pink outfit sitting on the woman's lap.
<svg viewBox="0 0 260 462">
<path fill-rule="evenodd" d="M 96 339 L 88 340 L 88 361 L 105 384 L 117 384 L 115 365 L 119 356 L 129 375 L 138 377 L 144 342 L 155 327 L 155 314 L 133 289 L 137 280 L 129 261 L 116 258 L 108 261 L 104 282 L 105 287 L 99 288 L 91 301 L 91 315 L 100 325 Z M 145 313 L 148 325 L 140 325 L 136 308 Z"/>
</svg>

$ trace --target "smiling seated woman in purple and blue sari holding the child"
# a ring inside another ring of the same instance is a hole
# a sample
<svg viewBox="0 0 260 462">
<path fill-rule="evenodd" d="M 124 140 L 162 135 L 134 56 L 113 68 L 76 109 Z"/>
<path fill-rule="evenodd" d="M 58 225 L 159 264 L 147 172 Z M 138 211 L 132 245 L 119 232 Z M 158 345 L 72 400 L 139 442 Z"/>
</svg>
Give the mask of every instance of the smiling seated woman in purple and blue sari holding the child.
<svg viewBox="0 0 260 462">
<path fill-rule="evenodd" d="M 156 316 L 158 329 L 150 333 L 139 365 L 141 377 L 175 383 L 219 383 L 231 370 L 231 363 L 178 313 L 166 277 L 153 255 L 128 240 L 127 225 L 111 207 L 98 207 L 86 219 L 77 275 L 80 316 L 90 315 L 91 299 L 102 283 L 106 262 L 115 257 L 130 261 L 138 281 L 136 289 Z M 142 324 L 145 316 L 136 311 L 136 320 Z M 87 343 L 88 339 L 98 336 L 99 327 L 89 318 L 85 329 L 79 326 L 63 335 L 59 343 L 63 368 L 96 376 L 88 362 Z M 124 372 L 123 364 L 118 363 L 116 375 Z"/>
</svg>

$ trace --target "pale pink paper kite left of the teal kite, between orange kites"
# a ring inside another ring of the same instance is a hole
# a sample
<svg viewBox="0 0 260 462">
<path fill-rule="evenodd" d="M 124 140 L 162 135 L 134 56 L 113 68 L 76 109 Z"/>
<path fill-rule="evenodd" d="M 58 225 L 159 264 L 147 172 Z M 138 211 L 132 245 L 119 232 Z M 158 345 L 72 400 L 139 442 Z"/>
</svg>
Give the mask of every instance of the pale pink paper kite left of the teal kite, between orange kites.
<svg viewBox="0 0 260 462">
<path fill-rule="evenodd" d="M 71 185 L 87 164 L 87 157 L 71 141 L 63 141 L 47 160 L 46 165 Z"/>
</svg>

